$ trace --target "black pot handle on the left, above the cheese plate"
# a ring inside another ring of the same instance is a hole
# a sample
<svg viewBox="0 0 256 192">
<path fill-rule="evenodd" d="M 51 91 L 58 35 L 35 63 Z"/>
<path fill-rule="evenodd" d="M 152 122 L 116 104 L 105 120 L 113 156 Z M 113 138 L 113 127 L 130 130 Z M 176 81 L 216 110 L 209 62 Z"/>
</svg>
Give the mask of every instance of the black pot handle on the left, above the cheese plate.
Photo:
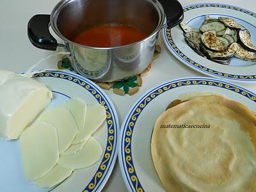
<svg viewBox="0 0 256 192">
<path fill-rule="evenodd" d="M 56 51 L 58 43 L 49 31 L 51 15 L 35 15 L 28 22 L 28 37 L 35 47 Z"/>
</svg>

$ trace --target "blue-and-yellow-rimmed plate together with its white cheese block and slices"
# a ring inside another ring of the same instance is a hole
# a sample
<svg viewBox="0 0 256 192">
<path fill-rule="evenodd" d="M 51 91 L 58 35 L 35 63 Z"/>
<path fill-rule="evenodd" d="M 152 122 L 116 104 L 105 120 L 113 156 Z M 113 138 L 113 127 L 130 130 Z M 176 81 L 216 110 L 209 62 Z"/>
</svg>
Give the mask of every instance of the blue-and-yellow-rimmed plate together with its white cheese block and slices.
<svg viewBox="0 0 256 192">
<path fill-rule="evenodd" d="M 78 74 L 0 70 L 1 191 L 100 191 L 116 161 L 118 117 Z"/>
</svg>

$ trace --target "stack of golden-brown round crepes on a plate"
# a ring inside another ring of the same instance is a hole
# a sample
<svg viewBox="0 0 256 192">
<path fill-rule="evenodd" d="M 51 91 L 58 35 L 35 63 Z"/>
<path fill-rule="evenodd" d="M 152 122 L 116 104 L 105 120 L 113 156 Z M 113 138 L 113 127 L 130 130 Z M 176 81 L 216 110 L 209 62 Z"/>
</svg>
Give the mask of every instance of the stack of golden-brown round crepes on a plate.
<svg viewBox="0 0 256 192">
<path fill-rule="evenodd" d="M 209 126 L 170 128 L 184 124 Z M 255 113 L 223 95 L 173 101 L 156 120 L 151 152 L 166 191 L 256 191 Z"/>
</svg>

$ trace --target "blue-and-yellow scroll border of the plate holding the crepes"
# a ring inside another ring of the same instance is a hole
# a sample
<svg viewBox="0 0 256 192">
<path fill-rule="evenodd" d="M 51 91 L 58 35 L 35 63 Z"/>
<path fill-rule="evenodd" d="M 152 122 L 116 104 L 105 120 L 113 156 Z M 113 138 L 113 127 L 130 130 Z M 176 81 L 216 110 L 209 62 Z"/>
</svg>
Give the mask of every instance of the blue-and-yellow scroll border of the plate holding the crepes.
<svg viewBox="0 0 256 192">
<path fill-rule="evenodd" d="M 256 104 L 256 94 L 252 93 L 245 88 L 238 86 L 236 84 L 228 83 L 214 78 L 205 78 L 205 77 L 189 77 L 185 79 L 177 79 L 173 81 L 168 81 L 159 86 L 156 86 L 148 93 L 145 93 L 131 108 L 125 120 L 122 124 L 122 129 L 119 136 L 119 149 L 118 149 L 118 160 L 120 168 L 122 171 L 122 176 L 124 178 L 125 184 L 129 191 L 145 191 L 141 185 L 140 179 L 136 174 L 134 168 L 134 163 L 132 161 L 132 133 L 136 121 L 140 117 L 141 112 L 145 107 L 154 100 L 156 97 L 161 95 L 164 92 L 168 92 L 175 88 L 181 86 L 194 86 L 194 85 L 204 85 L 204 86 L 217 86 L 232 92 L 236 92 L 248 99 L 252 100 Z"/>
</svg>

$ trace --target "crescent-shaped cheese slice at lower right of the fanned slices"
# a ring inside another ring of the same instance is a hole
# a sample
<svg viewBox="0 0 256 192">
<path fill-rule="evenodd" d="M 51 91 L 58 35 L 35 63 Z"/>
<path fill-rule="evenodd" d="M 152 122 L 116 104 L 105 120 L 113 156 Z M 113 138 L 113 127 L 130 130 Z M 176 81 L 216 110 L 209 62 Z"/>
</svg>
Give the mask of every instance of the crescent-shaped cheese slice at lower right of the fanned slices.
<svg viewBox="0 0 256 192">
<path fill-rule="evenodd" d="M 102 155 L 102 147 L 95 138 L 90 137 L 84 147 L 76 154 L 60 156 L 58 164 L 67 169 L 81 169 L 91 166 L 99 161 Z"/>
</svg>

